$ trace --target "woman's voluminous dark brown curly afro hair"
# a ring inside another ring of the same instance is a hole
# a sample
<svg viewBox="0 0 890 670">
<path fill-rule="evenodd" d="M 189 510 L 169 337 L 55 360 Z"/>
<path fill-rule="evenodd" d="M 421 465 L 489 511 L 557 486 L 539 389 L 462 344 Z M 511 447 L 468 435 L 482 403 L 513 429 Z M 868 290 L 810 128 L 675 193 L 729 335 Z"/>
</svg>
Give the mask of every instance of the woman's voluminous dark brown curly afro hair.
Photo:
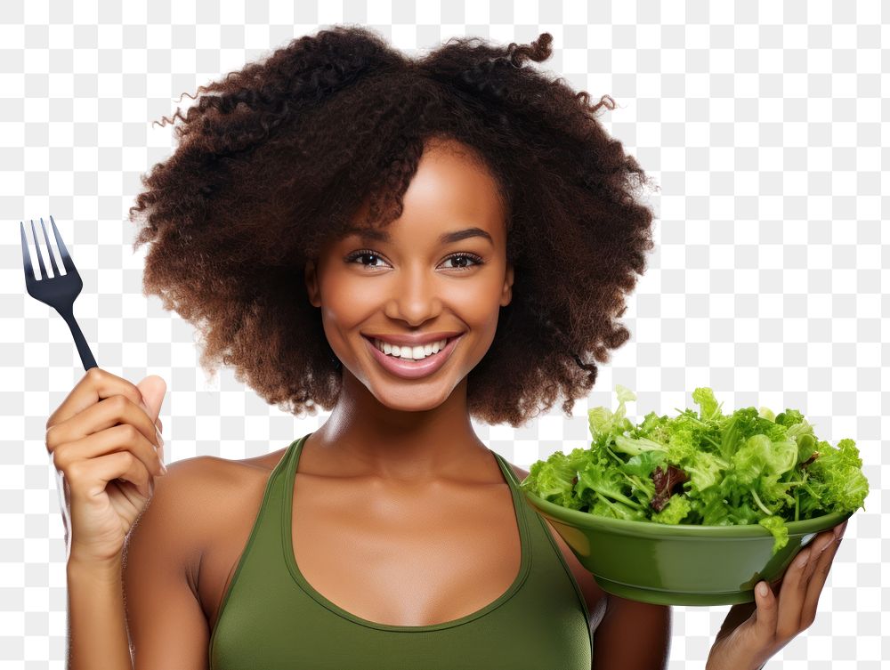
<svg viewBox="0 0 890 670">
<path fill-rule="evenodd" d="M 220 364 L 295 415 L 334 408 L 341 366 L 303 269 L 331 236 L 401 215 L 425 142 L 457 140 L 506 203 L 513 300 L 467 380 L 471 416 L 525 424 L 596 380 L 630 334 L 615 321 L 653 246 L 650 180 L 546 61 L 553 37 L 499 46 L 454 37 L 409 58 L 359 26 L 302 36 L 209 85 L 172 118 L 177 148 L 142 176 L 134 250 L 158 295 Z M 176 120 L 182 121 L 175 125 Z M 162 124 L 164 125 L 164 124 Z M 656 187 L 657 188 L 657 187 Z M 509 374 L 505 374 L 509 370 Z"/>
</svg>

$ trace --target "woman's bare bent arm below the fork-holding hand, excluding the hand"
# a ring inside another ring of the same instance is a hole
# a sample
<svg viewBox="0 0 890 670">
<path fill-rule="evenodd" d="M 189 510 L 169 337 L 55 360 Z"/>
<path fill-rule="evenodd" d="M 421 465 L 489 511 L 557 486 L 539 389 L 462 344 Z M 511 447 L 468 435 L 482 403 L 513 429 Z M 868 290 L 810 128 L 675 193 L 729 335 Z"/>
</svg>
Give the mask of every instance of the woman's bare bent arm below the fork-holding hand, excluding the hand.
<svg viewBox="0 0 890 670">
<path fill-rule="evenodd" d="M 189 575 L 211 526 L 206 458 L 171 464 L 121 559 L 68 562 L 69 670 L 205 670 L 209 631 Z"/>
</svg>

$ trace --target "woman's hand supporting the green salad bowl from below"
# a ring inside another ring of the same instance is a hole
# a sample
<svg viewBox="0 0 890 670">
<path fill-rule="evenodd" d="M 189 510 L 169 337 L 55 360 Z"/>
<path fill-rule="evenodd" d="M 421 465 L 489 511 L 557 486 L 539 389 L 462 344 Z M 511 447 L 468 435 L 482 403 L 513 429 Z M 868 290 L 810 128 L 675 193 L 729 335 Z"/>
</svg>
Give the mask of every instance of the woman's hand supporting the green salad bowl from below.
<svg viewBox="0 0 890 670">
<path fill-rule="evenodd" d="M 757 583 L 754 602 L 732 606 L 708 654 L 706 670 L 759 670 L 813 624 L 819 595 L 847 521 L 814 537 L 772 588 L 765 581 Z M 780 585 L 777 597 L 773 589 Z M 760 593 L 763 586 L 765 594 Z"/>
</svg>

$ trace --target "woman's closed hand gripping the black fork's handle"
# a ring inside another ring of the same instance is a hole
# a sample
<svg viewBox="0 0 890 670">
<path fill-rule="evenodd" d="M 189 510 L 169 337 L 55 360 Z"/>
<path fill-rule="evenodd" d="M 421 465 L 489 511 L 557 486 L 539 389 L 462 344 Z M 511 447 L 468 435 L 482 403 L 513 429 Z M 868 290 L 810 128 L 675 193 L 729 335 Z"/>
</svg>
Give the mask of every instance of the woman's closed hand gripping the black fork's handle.
<svg viewBox="0 0 890 670">
<path fill-rule="evenodd" d="M 92 367 L 46 421 L 46 449 L 64 490 L 69 561 L 114 565 L 163 474 L 158 412 L 166 383 L 138 385 Z"/>
</svg>

